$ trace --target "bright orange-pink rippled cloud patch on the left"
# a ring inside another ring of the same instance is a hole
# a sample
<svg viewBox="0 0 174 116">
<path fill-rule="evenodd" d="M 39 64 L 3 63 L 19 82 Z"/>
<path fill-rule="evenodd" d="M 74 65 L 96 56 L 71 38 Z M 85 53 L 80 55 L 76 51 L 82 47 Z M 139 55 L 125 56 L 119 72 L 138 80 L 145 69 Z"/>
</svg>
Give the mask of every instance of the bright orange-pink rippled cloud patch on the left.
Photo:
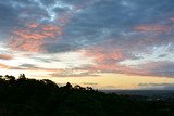
<svg viewBox="0 0 174 116">
<path fill-rule="evenodd" d="M 39 52 L 47 39 L 57 39 L 62 35 L 62 27 L 52 24 L 27 24 L 26 28 L 12 31 L 13 39 L 9 46 L 13 50 Z"/>
</svg>

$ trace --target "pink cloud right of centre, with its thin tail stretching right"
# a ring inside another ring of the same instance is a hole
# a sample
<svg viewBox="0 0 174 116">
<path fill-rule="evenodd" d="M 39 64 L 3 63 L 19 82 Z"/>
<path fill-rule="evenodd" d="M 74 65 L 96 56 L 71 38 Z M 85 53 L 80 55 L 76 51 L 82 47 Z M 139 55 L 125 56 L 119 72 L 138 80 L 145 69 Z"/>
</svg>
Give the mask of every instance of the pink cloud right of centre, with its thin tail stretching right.
<svg viewBox="0 0 174 116">
<path fill-rule="evenodd" d="M 94 57 L 94 64 L 87 68 L 84 67 L 86 72 L 90 72 L 91 74 L 115 73 L 124 75 L 158 76 L 153 70 L 161 66 L 160 63 L 146 63 L 139 66 L 121 64 L 120 62 L 127 57 L 120 49 L 92 48 L 84 53 L 88 57 Z"/>
</svg>

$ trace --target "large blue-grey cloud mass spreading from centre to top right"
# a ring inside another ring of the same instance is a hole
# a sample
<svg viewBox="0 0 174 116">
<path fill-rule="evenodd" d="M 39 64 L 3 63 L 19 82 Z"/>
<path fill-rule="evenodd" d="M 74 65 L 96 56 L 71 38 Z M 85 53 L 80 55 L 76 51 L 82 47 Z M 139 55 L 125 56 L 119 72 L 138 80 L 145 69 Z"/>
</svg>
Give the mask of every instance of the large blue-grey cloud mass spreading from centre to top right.
<svg viewBox="0 0 174 116">
<path fill-rule="evenodd" d="M 129 3 L 128 0 L 125 0 L 125 2 Z M 71 1 L 67 0 L 66 3 L 71 3 Z M 164 34 L 165 36 L 163 37 L 151 34 L 151 37 L 149 37 L 150 34 L 137 34 L 133 30 L 133 27 L 139 24 L 153 24 L 159 22 L 159 18 L 166 18 L 166 15 L 174 10 L 172 7 L 174 4 L 173 1 L 134 0 L 130 3 L 133 7 L 123 5 L 122 0 L 103 0 L 96 1 L 91 5 L 86 4 L 83 11 L 75 14 L 69 25 L 65 26 L 64 35 L 61 37 L 62 40 L 53 46 L 48 46 L 47 49 L 50 52 L 65 52 L 96 46 L 103 40 L 112 39 L 116 47 L 122 46 L 123 48 L 135 50 L 147 47 L 139 44 L 141 41 L 145 41 L 145 44 L 153 46 L 159 41 L 163 43 L 163 41 L 173 40 L 169 34 Z M 105 30 L 107 33 L 104 33 Z M 65 44 L 63 49 L 61 48 L 62 44 Z"/>
</svg>

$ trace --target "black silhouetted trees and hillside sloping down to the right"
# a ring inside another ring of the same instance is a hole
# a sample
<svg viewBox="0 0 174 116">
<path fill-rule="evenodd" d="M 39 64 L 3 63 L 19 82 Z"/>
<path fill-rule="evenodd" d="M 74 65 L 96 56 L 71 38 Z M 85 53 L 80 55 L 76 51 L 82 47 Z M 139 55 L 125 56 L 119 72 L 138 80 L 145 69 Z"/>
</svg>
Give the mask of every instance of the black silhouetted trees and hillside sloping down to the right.
<svg viewBox="0 0 174 116">
<path fill-rule="evenodd" d="M 0 116 L 174 116 L 173 100 L 107 94 L 90 87 L 59 87 L 24 74 L 0 78 Z"/>
</svg>

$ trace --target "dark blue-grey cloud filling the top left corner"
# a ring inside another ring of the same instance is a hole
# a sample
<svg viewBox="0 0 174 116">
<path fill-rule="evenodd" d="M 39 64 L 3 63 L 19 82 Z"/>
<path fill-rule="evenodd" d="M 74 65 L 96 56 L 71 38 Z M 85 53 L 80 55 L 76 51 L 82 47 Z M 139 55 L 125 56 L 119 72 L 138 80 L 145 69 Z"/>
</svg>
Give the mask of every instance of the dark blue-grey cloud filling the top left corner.
<svg viewBox="0 0 174 116">
<path fill-rule="evenodd" d="M 25 23 L 36 22 L 47 14 L 30 0 L 9 0 L 0 2 L 0 34 L 5 41 L 12 30 L 25 27 Z"/>
</svg>

